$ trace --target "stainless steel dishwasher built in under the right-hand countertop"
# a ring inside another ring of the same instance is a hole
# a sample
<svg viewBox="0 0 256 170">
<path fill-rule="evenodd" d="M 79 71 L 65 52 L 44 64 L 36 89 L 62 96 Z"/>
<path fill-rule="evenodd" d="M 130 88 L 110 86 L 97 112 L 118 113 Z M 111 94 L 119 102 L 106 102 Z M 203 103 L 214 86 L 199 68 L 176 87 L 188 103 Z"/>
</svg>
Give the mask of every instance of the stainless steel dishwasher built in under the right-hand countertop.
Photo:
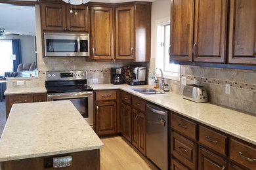
<svg viewBox="0 0 256 170">
<path fill-rule="evenodd" d="M 167 110 L 146 104 L 146 155 L 161 170 L 168 169 Z"/>
</svg>

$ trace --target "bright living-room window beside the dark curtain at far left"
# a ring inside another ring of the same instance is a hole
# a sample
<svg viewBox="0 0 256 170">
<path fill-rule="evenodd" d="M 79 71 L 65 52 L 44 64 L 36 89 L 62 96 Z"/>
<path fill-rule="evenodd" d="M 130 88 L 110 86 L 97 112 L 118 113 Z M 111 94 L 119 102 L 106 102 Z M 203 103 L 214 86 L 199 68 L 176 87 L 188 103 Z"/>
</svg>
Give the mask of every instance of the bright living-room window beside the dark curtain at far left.
<svg viewBox="0 0 256 170">
<path fill-rule="evenodd" d="M 12 71 L 13 61 L 12 55 L 12 41 L 0 40 L 0 75 L 5 75 L 5 72 Z"/>
</svg>

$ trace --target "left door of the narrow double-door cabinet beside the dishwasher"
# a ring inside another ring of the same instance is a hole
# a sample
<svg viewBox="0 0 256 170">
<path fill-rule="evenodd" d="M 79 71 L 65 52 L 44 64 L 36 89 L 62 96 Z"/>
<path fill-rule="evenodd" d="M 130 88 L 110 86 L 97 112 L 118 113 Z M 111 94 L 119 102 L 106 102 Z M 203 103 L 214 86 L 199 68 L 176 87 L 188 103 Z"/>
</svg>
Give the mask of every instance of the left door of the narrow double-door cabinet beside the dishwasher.
<svg viewBox="0 0 256 170">
<path fill-rule="evenodd" d="M 139 119 L 139 112 L 135 109 L 133 109 L 133 124 L 132 124 L 132 128 L 133 128 L 133 137 L 132 137 L 132 142 L 133 145 L 135 147 L 138 148 L 139 146 L 139 124 L 138 124 L 138 119 Z"/>
</svg>

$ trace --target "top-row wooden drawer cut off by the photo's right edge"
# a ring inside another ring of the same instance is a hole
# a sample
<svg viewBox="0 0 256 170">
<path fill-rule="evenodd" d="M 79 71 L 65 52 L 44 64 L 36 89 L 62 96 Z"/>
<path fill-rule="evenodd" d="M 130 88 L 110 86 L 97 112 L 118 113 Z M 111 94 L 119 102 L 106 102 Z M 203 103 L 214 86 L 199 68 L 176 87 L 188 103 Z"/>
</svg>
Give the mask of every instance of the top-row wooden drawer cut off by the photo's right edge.
<svg viewBox="0 0 256 170">
<path fill-rule="evenodd" d="M 249 169 L 256 169 L 256 148 L 230 139 L 229 156 Z"/>
</svg>

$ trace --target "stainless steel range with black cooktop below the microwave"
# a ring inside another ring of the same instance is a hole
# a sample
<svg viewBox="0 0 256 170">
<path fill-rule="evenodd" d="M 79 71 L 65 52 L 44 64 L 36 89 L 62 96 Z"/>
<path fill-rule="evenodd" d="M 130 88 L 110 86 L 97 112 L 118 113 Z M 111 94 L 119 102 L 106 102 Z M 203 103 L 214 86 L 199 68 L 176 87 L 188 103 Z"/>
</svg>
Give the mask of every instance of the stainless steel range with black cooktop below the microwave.
<svg viewBox="0 0 256 170">
<path fill-rule="evenodd" d="M 93 88 L 87 85 L 86 71 L 47 71 L 47 101 L 70 100 L 93 126 Z"/>
</svg>

